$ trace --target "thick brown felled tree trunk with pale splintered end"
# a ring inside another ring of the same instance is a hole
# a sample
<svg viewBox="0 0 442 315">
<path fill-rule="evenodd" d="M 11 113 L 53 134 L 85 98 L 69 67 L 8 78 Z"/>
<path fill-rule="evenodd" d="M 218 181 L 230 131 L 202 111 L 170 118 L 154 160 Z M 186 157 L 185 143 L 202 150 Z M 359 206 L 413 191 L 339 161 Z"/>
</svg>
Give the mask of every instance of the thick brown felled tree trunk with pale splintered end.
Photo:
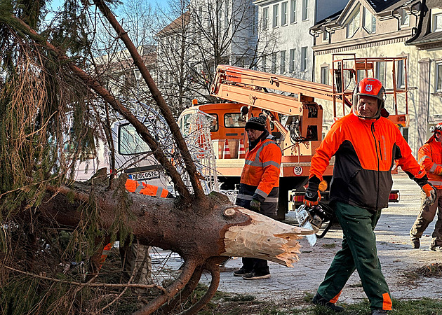
<svg viewBox="0 0 442 315">
<path fill-rule="evenodd" d="M 122 176 L 118 180 L 126 179 Z M 116 191 L 107 190 L 107 187 L 94 186 L 94 202 L 99 209 L 96 224 L 105 235 L 116 220 L 119 207 L 118 198 L 114 197 Z M 54 188 L 46 194 L 38 209 L 51 222 L 76 228 L 84 216 L 79 209 L 88 200 L 89 196 L 82 193 L 87 190 L 84 183 L 75 183 L 72 188 Z M 55 191 L 58 193 L 53 193 Z M 217 265 L 225 259 L 220 256 L 262 258 L 292 267 L 300 252 L 297 239 L 312 233 L 231 204 L 227 196 L 219 193 L 210 194 L 202 202 L 195 199 L 186 209 L 178 209 L 175 199 L 135 193 L 128 193 L 128 199 L 130 206 L 125 224 L 133 231 L 135 239 L 140 244 L 178 253 L 185 260 L 182 274 L 166 288 L 166 293 L 137 314 L 151 314 L 169 301 L 177 304 L 181 290 L 185 295 L 194 290 L 201 276 L 199 268 L 207 269 L 212 274 L 212 283 L 208 293 L 189 309 L 188 314 L 194 314 L 215 294 L 220 276 Z"/>
</svg>

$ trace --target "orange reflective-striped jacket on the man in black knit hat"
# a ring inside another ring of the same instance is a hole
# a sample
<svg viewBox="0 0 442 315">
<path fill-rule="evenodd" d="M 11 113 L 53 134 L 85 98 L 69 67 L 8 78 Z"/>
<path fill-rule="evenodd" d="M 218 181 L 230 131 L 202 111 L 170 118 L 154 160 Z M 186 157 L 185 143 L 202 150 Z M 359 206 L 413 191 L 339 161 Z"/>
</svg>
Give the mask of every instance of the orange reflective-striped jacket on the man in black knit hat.
<svg viewBox="0 0 442 315">
<path fill-rule="evenodd" d="M 269 135 L 246 153 L 236 204 L 248 208 L 252 199 L 261 202 L 263 214 L 275 214 L 279 196 L 281 148 Z"/>
</svg>

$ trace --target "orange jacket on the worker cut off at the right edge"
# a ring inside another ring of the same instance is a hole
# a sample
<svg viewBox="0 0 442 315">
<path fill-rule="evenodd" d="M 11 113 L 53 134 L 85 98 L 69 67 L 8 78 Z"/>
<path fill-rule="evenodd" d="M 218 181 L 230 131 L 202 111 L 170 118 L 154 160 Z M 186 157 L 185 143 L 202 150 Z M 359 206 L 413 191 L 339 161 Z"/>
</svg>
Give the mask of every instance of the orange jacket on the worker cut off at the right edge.
<svg viewBox="0 0 442 315">
<path fill-rule="evenodd" d="M 417 155 L 420 165 L 427 171 L 428 181 L 434 188 L 442 189 L 442 145 L 431 137 L 420 147 Z"/>
</svg>

